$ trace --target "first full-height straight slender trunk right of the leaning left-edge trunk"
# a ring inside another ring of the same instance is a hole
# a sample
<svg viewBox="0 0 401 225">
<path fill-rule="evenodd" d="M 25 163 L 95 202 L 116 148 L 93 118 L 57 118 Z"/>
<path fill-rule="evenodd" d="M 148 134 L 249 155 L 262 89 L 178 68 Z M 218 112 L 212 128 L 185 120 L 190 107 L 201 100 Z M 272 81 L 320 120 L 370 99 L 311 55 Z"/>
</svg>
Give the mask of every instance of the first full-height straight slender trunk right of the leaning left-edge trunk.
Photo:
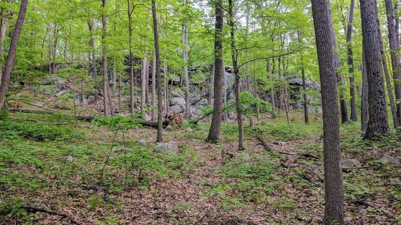
<svg viewBox="0 0 401 225">
<path fill-rule="evenodd" d="M 107 18 L 106 18 L 106 0 L 102 0 L 102 51 L 103 51 L 103 107 L 104 107 L 104 116 L 107 116 L 107 97 L 108 97 L 108 88 L 107 88 L 107 47 L 106 47 L 106 28 L 107 28 Z"/>
</svg>

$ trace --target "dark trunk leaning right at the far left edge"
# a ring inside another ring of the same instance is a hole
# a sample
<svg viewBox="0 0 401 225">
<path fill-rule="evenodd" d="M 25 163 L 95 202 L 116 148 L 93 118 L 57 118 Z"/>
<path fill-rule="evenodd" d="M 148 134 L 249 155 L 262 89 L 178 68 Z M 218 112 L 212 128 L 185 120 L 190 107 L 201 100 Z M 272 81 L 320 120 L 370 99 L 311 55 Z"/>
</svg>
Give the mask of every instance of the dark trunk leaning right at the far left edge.
<svg viewBox="0 0 401 225">
<path fill-rule="evenodd" d="M 25 13 L 27 12 L 28 0 L 21 0 L 20 12 L 18 13 L 17 22 L 11 38 L 9 54 L 6 60 L 6 67 L 4 68 L 3 80 L 0 85 L 0 111 L 3 108 L 6 94 L 9 91 L 11 72 L 13 71 L 14 62 L 16 59 L 18 40 L 20 39 L 22 25 L 24 23 Z"/>
</svg>

